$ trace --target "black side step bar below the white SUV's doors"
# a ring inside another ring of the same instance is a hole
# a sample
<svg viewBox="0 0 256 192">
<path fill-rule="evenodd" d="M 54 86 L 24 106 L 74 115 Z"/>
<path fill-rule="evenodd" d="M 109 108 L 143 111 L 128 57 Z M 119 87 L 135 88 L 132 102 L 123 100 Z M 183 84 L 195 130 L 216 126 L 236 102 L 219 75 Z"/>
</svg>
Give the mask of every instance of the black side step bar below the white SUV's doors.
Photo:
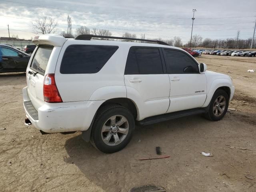
<svg viewBox="0 0 256 192">
<path fill-rule="evenodd" d="M 145 126 L 145 125 L 160 123 L 163 121 L 177 119 L 177 118 L 181 118 L 181 117 L 185 117 L 185 116 L 198 115 L 198 114 L 202 114 L 202 113 L 206 113 L 206 112 L 207 112 L 206 108 L 188 109 L 188 110 L 148 117 L 148 118 L 145 118 L 144 120 L 138 121 L 137 124 Z"/>
</svg>

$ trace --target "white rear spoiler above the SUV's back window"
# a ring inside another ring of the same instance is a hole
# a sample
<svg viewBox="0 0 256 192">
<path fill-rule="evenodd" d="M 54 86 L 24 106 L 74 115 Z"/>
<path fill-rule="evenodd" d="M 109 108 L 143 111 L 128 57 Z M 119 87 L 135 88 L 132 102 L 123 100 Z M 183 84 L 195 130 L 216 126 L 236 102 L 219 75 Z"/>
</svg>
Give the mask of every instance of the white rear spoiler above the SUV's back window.
<svg viewBox="0 0 256 192">
<path fill-rule="evenodd" d="M 36 45 L 47 44 L 47 45 L 53 45 L 53 46 L 62 46 L 64 42 L 66 42 L 66 40 L 67 40 L 66 38 L 60 35 L 46 34 L 46 35 L 35 36 L 32 42 Z"/>
</svg>

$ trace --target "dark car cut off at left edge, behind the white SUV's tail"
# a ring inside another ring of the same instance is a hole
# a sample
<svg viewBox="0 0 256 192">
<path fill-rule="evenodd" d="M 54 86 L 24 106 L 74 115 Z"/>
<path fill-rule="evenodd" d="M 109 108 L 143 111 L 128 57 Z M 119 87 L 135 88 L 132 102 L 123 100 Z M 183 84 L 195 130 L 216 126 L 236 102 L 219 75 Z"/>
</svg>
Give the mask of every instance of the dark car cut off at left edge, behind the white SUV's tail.
<svg viewBox="0 0 256 192">
<path fill-rule="evenodd" d="M 0 62 L 0 73 L 25 72 L 30 55 L 6 44 L 0 44 L 2 62 Z"/>
</svg>

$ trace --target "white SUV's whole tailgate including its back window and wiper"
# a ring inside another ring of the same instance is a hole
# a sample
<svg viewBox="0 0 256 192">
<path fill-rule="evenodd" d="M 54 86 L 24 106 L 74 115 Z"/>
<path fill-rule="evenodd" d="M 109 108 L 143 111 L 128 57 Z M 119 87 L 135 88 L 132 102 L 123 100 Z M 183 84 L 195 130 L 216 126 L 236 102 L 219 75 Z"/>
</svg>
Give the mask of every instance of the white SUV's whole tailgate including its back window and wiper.
<svg viewBox="0 0 256 192">
<path fill-rule="evenodd" d="M 26 80 L 28 85 L 28 96 L 36 110 L 44 104 L 44 76 L 54 46 L 39 45 L 27 68 Z"/>
</svg>

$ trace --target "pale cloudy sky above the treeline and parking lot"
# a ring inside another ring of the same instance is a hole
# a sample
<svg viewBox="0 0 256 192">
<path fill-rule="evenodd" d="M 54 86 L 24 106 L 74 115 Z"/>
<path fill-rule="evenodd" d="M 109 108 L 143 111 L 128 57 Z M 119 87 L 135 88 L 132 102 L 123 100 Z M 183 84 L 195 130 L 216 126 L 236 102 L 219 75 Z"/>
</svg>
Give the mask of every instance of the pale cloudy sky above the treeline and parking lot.
<svg viewBox="0 0 256 192">
<path fill-rule="evenodd" d="M 58 22 L 56 34 L 67 32 L 68 15 L 72 31 L 86 26 L 110 30 L 112 36 L 125 32 L 140 38 L 190 40 L 194 12 L 193 35 L 205 38 L 252 38 L 256 19 L 255 0 L 0 0 L 0 36 L 36 36 L 32 22 L 43 16 Z"/>
</svg>

